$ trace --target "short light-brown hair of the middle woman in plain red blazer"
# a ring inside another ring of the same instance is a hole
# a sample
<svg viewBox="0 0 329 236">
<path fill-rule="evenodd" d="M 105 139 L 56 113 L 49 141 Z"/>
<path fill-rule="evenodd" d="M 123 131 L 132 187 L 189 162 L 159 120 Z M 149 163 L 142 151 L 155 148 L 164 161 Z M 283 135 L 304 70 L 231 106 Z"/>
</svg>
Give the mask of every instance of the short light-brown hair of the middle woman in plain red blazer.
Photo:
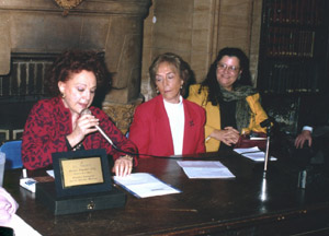
<svg viewBox="0 0 329 236">
<path fill-rule="evenodd" d="M 186 85 L 190 84 L 191 80 L 194 80 L 194 73 L 190 68 L 190 64 L 185 62 L 180 56 L 172 54 L 172 52 L 166 52 L 162 55 L 159 55 L 149 67 L 149 75 L 151 80 L 151 85 L 156 87 L 156 75 L 158 72 L 158 68 L 160 63 L 168 62 L 169 64 L 173 66 L 179 74 L 180 78 L 183 80 L 183 85 L 181 88 L 181 95 L 185 97 L 186 94 Z"/>
</svg>

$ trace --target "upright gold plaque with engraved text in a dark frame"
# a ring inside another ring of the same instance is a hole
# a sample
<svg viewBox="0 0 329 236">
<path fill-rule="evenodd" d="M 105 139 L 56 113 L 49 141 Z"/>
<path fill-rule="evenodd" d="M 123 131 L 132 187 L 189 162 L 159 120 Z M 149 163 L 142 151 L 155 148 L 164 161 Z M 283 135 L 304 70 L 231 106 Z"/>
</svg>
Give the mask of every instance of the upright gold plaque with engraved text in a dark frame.
<svg viewBox="0 0 329 236">
<path fill-rule="evenodd" d="M 112 189 L 104 149 L 57 152 L 52 157 L 58 198 L 107 192 Z"/>
</svg>

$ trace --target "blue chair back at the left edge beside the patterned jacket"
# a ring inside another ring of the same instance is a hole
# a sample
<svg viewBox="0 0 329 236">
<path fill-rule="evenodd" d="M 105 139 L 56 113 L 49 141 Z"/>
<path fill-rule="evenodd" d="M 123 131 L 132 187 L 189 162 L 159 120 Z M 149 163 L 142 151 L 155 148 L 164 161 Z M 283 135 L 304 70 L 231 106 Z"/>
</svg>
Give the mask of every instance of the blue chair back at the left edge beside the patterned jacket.
<svg viewBox="0 0 329 236">
<path fill-rule="evenodd" d="M 5 154 L 5 169 L 23 167 L 22 140 L 8 141 L 0 146 L 0 152 Z"/>
</svg>

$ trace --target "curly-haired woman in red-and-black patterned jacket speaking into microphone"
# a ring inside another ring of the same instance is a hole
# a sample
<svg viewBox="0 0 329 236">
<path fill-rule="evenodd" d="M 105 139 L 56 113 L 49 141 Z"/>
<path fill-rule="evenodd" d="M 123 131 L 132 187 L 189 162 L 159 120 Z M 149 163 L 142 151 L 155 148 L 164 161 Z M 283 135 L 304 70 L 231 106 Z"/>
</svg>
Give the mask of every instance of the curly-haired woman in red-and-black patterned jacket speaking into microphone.
<svg viewBox="0 0 329 236">
<path fill-rule="evenodd" d="M 25 168 L 50 165 L 54 152 L 105 149 L 113 156 L 113 172 L 118 176 L 131 174 L 133 157 L 114 149 L 95 129 L 100 126 L 120 150 L 137 152 L 107 115 L 91 106 L 97 88 L 107 78 L 102 59 L 93 51 L 65 51 L 56 59 L 47 78 L 54 97 L 37 102 L 25 123 L 22 142 Z M 91 114 L 81 115 L 86 108 Z"/>
</svg>

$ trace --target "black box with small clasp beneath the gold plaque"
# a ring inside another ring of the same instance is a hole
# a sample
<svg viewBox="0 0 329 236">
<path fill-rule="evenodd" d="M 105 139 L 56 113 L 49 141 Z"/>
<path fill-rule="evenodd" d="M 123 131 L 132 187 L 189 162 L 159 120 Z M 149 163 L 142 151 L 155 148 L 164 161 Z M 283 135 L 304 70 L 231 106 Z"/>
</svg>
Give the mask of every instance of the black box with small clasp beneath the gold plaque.
<svg viewBox="0 0 329 236">
<path fill-rule="evenodd" d="M 44 203 L 55 215 L 122 208 L 126 203 L 126 194 L 115 187 L 107 192 L 57 198 L 55 182 L 37 182 L 35 199 Z"/>
</svg>

